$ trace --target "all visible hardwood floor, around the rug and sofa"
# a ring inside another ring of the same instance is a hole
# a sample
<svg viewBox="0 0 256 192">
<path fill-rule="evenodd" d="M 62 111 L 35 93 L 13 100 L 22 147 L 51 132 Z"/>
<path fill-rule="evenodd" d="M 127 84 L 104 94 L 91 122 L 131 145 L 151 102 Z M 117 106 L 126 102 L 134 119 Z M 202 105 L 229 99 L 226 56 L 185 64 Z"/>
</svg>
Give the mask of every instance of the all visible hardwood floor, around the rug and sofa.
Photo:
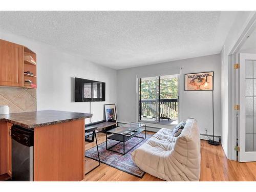
<svg viewBox="0 0 256 192">
<path fill-rule="evenodd" d="M 152 133 L 152 132 L 148 132 Z M 154 133 L 152 133 L 154 134 Z M 105 141 L 105 134 L 97 133 L 98 143 Z M 86 142 L 86 150 L 96 145 L 96 142 Z M 86 160 L 89 165 L 90 160 Z M 145 174 L 138 178 L 109 165 L 101 163 L 99 167 L 85 176 L 83 181 L 162 181 L 159 178 Z M 201 140 L 201 175 L 200 181 L 256 181 L 256 162 L 239 163 L 228 160 L 222 146 L 209 145 Z"/>
</svg>

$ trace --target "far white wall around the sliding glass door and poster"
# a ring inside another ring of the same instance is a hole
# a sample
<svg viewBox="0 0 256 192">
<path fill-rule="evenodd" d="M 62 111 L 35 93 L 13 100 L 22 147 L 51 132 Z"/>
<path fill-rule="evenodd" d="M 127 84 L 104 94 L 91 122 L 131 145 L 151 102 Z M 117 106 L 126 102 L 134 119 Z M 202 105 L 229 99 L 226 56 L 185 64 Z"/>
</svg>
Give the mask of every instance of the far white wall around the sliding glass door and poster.
<svg viewBox="0 0 256 192">
<path fill-rule="evenodd" d="M 118 121 L 135 122 L 137 110 L 136 102 L 136 74 L 158 74 L 166 75 L 172 70 L 182 68 L 180 83 L 181 95 L 181 117 L 186 120 L 195 117 L 198 120 L 200 132 L 212 135 L 212 92 L 211 91 L 184 91 L 184 74 L 204 71 L 214 71 L 215 82 L 215 135 L 221 135 L 220 129 L 220 101 L 221 101 L 221 57 L 220 54 L 196 57 L 184 60 L 177 60 L 159 63 L 150 66 L 142 66 L 117 71 L 117 113 Z M 154 125 L 156 126 L 156 125 Z M 162 125 L 161 125 L 162 126 Z M 164 127 L 164 126 L 162 126 Z"/>
</svg>

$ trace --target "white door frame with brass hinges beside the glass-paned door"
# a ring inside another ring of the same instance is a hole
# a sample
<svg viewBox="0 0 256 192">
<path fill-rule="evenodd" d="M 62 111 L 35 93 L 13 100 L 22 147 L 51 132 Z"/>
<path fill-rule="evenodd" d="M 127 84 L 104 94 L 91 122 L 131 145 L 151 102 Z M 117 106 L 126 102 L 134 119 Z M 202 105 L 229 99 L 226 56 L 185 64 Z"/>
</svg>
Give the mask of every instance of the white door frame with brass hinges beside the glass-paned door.
<svg viewBox="0 0 256 192">
<path fill-rule="evenodd" d="M 239 70 L 234 70 L 233 65 L 239 63 L 239 51 L 254 30 L 256 30 L 256 13 L 253 14 L 228 55 L 228 84 L 230 84 L 228 100 L 231 101 L 228 104 L 230 114 L 228 129 L 231 137 L 228 139 L 228 159 L 235 161 L 238 161 L 237 151 L 234 150 L 234 147 L 237 146 L 240 119 L 238 118 L 239 112 L 234 110 L 234 105 L 239 104 Z"/>
</svg>

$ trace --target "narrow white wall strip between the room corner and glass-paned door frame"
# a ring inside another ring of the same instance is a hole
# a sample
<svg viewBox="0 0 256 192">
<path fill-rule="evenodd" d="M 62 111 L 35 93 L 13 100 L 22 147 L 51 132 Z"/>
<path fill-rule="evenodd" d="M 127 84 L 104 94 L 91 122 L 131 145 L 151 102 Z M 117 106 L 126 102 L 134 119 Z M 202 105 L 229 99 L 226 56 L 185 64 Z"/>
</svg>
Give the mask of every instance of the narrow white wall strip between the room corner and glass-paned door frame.
<svg viewBox="0 0 256 192">
<path fill-rule="evenodd" d="M 231 138 L 231 110 L 233 107 L 231 106 L 232 67 L 228 65 L 228 55 L 248 25 L 253 14 L 253 11 L 241 11 L 238 13 L 221 51 L 221 144 L 228 159 L 232 159 L 232 151 L 234 147 Z M 236 158 L 236 155 L 234 155 L 234 158 Z"/>
</svg>

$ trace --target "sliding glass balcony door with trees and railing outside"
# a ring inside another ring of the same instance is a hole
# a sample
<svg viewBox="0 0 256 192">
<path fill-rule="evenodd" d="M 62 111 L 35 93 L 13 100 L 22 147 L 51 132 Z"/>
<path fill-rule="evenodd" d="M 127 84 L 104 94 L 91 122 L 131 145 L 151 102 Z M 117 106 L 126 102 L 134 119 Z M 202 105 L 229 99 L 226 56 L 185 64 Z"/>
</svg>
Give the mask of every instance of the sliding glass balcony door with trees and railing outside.
<svg viewBox="0 0 256 192">
<path fill-rule="evenodd" d="M 178 123 L 178 77 L 176 74 L 139 78 L 139 121 Z"/>
</svg>

